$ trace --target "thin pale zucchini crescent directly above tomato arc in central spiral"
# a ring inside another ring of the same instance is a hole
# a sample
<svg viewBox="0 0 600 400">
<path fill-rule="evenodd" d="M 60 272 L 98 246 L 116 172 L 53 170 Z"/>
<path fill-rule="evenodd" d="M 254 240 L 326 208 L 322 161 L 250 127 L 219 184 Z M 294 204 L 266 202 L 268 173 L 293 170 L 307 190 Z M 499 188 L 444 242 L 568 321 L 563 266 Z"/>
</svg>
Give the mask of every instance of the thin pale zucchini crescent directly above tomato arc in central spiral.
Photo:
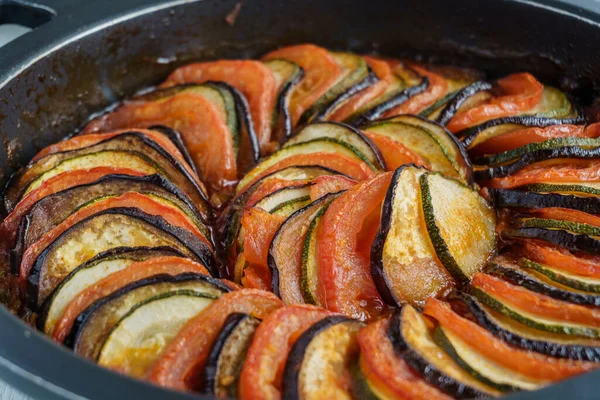
<svg viewBox="0 0 600 400">
<path fill-rule="evenodd" d="M 283 147 L 271 154 L 268 158 L 264 159 L 254 169 L 248 172 L 238 183 L 238 187 L 245 188 L 250 182 L 259 177 L 262 173 L 267 171 L 270 167 L 277 164 L 281 160 L 288 157 L 301 155 L 301 154 L 312 154 L 312 153 L 337 153 L 346 157 L 352 158 L 359 162 L 364 162 L 371 170 L 378 172 L 379 168 L 369 161 L 369 159 L 362 154 L 354 146 L 347 144 L 338 139 L 334 138 L 319 138 L 309 140 L 307 142 L 297 143 L 290 146 Z"/>
</svg>

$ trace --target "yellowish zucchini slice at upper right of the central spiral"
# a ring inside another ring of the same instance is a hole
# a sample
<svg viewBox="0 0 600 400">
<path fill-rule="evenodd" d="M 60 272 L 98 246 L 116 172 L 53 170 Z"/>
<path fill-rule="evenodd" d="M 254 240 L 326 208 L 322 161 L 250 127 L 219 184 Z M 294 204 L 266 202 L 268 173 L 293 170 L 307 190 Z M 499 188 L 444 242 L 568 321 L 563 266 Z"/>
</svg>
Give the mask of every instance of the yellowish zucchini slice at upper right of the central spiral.
<svg viewBox="0 0 600 400">
<path fill-rule="evenodd" d="M 427 160 L 434 171 L 472 182 L 468 157 L 458 141 L 442 126 L 419 117 L 401 115 L 363 128 L 389 137 Z"/>
</svg>

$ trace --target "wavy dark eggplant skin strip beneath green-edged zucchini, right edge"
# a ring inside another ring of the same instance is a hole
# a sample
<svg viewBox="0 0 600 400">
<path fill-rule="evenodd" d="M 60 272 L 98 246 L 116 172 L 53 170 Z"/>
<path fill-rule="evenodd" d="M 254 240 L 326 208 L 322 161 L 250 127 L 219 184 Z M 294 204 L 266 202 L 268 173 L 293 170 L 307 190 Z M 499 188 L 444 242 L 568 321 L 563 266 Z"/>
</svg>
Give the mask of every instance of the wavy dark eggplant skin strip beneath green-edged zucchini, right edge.
<svg viewBox="0 0 600 400">
<path fill-rule="evenodd" d="M 567 146 L 559 147 L 557 149 L 534 150 L 522 155 L 510 164 L 475 171 L 475 179 L 487 180 L 509 176 L 533 163 L 556 158 L 576 158 L 587 160 L 598 157 L 600 157 L 600 147 L 584 149 L 579 146 Z"/>
</svg>

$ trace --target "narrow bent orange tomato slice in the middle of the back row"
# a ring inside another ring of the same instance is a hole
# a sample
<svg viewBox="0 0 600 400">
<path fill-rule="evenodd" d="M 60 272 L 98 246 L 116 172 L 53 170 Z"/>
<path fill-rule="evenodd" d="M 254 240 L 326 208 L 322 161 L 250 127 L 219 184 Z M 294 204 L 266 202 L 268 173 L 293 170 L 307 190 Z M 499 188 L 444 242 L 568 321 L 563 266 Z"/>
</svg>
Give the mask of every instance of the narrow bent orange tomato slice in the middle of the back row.
<svg viewBox="0 0 600 400">
<path fill-rule="evenodd" d="M 345 101 L 333 112 L 333 114 L 331 114 L 329 117 L 330 120 L 343 121 L 350 117 L 355 112 L 362 109 L 364 106 L 371 103 L 371 101 L 382 95 L 392 82 L 394 75 L 392 74 L 392 69 L 387 61 L 369 56 L 364 56 L 363 58 L 367 64 L 369 64 L 369 67 L 371 67 L 371 70 L 379 80 Z"/>
</svg>

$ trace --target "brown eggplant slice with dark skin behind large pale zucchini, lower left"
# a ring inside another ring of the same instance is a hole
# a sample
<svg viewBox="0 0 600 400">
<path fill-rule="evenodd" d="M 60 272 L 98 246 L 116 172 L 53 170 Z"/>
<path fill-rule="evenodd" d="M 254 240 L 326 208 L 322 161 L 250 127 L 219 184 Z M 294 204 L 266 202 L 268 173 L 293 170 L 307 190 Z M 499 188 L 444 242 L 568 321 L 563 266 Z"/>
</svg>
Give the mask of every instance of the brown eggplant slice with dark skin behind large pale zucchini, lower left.
<svg viewBox="0 0 600 400">
<path fill-rule="evenodd" d="M 155 275 L 124 286 L 110 296 L 100 299 L 85 309 L 75 320 L 71 332 L 65 339 L 65 345 L 77 354 L 98 361 L 105 342 L 114 333 L 115 328 L 140 305 L 157 296 L 176 294 L 181 291 L 193 291 L 207 298 L 216 299 L 228 290 L 217 280 L 194 273 L 175 276 Z M 165 310 L 164 315 L 155 315 L 157 328 L 162 325 L 163 318 L 175 317 L 185 310 L 175 308 Z M 152 323 L 152 314 L 147 322 Z M 141 323 L 141 321 L 138 321 Z M 136 335 L 129 337 L 135 340 Z M 127 336 L 124 337 L 125 339 Z M 158 343 L 156 343 L 158 344 Z M 127 357 L 130 354 L 123 354 Z"/>
</svg>

